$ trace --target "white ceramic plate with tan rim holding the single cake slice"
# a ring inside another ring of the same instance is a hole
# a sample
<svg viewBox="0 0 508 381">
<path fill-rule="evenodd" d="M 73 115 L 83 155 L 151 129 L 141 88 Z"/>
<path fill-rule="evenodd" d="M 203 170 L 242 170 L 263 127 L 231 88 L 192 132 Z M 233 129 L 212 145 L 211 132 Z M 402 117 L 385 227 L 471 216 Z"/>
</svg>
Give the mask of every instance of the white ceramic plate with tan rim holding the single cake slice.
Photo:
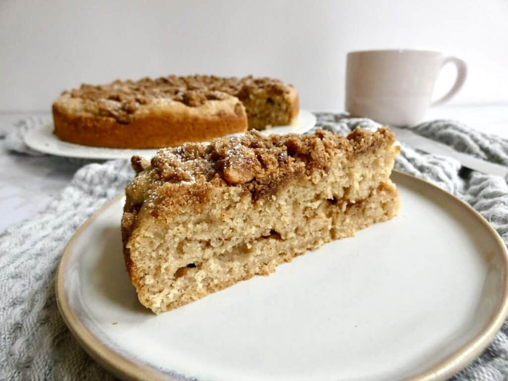
<svg viewBox="0 0 508 381">
<path fill-rule="evenodd" d="M 399 216 L 160 315 L 124 269 L 123 197 L 75 234 L 57 300 L 81 345 L 122 378 L 445 379 L 507 308 L 507 252 L 467 204 L 394 173 Z"/>
</svg>

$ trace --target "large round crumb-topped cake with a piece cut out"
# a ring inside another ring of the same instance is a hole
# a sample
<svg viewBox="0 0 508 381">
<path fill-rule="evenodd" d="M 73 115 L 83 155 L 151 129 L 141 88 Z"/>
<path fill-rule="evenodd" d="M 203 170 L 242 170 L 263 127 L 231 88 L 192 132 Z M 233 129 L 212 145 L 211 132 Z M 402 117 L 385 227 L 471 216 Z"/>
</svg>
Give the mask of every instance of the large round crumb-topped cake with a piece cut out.
<svg viewBox="0 0 508 381">
<path fill-rule="evenodd" d="M 261 117 L 260 102 L 261 109 L 267 110 Z M 290 124 L 298 115 L 298 94 L 270 78 L 168 76 L 84 84 L 64 91 L 52 109 L 54 133 L 61 140 L 101 147 L 160 148 L 245 132 L 249 113 L 257 113 L 253 128 Z"/>
</svg>

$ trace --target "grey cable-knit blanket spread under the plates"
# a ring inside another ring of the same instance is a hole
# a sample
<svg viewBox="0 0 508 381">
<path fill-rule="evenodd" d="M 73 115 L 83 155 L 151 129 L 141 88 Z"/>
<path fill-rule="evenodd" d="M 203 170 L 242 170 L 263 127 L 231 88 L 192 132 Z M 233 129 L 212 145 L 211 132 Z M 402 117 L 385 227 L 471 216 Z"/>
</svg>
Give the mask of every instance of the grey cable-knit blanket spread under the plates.
<svg viewBox="0 0 508 381">
<path fill-rule="evenodd" d="M 317 126 L 347 133 L 357 125 L 376 128 L 368 119 L 318 114 Z M 11 150 L 36 154 L 22 143 L 26 130 L 46 120 L 20 122 L 4 142 Z M 508 141 L 475 132 L 453 121 L 423 123 L 414 130 L 455 149 L 508 165 Z M 2 136 L 0 132 L 0 136 Z M 43 155 L 58 166 L 65 158 Z M 63 323 L 55 301 L 54 280 L 60 256 L 76 229 L 94 211 L 123 191 L 134 176 L 128 161 L 102 164 L 74 161 L 71 183 L 45 210 L 0 235 L 0 380 L 113 379 L 79 346 Z M 508 243 L 506 179 L 461 170 L 452 158 L 402 146 L 396 168 L 423 178 L 467 201 Z M 508 378 L 508 321 L 480 358 L 454 380 Z"/>
</svg>

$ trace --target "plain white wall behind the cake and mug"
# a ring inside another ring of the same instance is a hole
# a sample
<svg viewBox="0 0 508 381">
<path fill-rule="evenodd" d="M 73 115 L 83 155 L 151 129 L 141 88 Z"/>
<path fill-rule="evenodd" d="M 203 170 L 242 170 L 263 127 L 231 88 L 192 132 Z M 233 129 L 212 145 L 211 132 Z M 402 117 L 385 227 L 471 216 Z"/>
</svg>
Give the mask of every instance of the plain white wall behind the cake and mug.
<svg viewBox="0 0 508 381">
<path fill-rule="evenodd" d="M 503 103 L 507 20 L 506 0 L 0 1 L 0 111 L 48 110 L 82 82 L 170 73 L 278 77 L 302 107 L 341 110 L 346 52 L 401 47 L 467 61 L 454 103 Z M 453 76 L 444 68 L 436 92 Z"/>
</svg>

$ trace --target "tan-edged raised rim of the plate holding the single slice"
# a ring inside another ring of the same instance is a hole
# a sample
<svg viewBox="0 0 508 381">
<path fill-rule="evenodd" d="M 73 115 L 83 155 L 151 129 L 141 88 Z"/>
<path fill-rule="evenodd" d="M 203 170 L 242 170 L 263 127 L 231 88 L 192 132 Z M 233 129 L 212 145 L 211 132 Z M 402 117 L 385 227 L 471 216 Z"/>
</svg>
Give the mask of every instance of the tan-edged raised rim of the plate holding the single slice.
<svg viewBox="0 0 508 381">
<path fill-rule="evenodd" d="M 431 186 L 434 190 L 437 190 L 442 196 L 451 199 L 454 202 L 465 208 L 468 212 L 471 212 L 475 218 L 487 228 L 487 231 L 491 234 L 494 242 L 499 246 L 501 257 L 502 257 L 502 283 L 504 288 L 501 292 L 500 303 L 497 306 L 495 312 L 489 317 L 487 325 L 480 331 L 478 335 L 473 337 L 471 340 L 463 344 L 457 351 L 447 356 L 439 363 L 435 364 L 431 368 L 424 370 L 414 376 L 405 378 L 406 381 L 439 381 L 449 378 L 457 372 L 464 369 L 474 359 L 481 355 L 485 348 L 490 344 L 494 336 L 500 330 L 506 313 L 508 312 L 508 249 L 506 248 L 503 240 L 496 232 L 496 230 L 488 223 L 488 221 L 473 207 L 467 204 L 465 201 L 452 195 L 446 190 L 439 186 L 432 184 L 426 180 L 418 178 L 416 176 L 393 170 L 392 175 L 405 177 L 411 181 L 417 181 L 423 183 L 426 186 Z M 67 292 L 63 287 L 63 278 L 66 273 L 66 267 L 69 263 L 70 251 L 73 248 L 75 241 L 93 223 L 107 208 L 112 204 L 118 202 L 124 194 L 120 194 L 104 204 L 99 210 L 94 212 L 74 233 L 71 240 L 67 244 L 65 250 L 63 250 L 60 258 L 57 274 L 55 279 L 55 295 L 56 304 L 63 321 L 76 338 L 80 346 L 99 364 L 106 368 L 109 372 L 113 373 L 121 379 L 129 380 L 143 380 L 146 378 L 150 379 L 165 379 L 170 381 L 177 381 L 179 378 L 157 370 L 148 364 L 137 361 L 134 359 L 128 359 L 119 353 L 111 350 L 104 343 L 102 343 L 96 336 L 94 336 L 78 319 L 78 317 L 72 312 L 72 309 L 67 302 Z"/>
</svg>

